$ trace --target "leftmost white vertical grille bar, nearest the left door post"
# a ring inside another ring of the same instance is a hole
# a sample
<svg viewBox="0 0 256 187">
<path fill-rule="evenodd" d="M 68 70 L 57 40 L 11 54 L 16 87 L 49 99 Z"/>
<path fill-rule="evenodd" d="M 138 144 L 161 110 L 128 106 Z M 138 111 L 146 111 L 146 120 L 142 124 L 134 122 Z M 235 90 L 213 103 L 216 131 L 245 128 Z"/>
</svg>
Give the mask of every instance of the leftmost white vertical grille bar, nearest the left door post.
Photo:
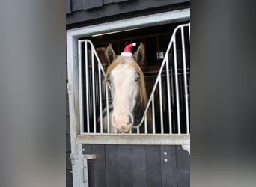
<svg viewBox="0 0 256 187">
<path fill-rule="evenodd" d="M 83 91 L 82 91 L 82 41 L 79 40 L 78 47 L 79 55 L 79 121 L 80 121 L 80 133 L 84 132 L 84 108 L 83 108 Z"/>
</svg>

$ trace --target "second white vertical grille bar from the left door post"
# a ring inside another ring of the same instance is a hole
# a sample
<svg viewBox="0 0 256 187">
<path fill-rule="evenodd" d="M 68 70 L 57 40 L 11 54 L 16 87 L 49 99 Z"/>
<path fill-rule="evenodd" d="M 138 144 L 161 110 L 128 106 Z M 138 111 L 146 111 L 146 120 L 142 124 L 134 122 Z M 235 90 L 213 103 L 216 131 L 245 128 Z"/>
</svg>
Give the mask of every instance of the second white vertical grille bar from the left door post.
<svg viewBox="0 0 256 187">
<path fill-rule="evenodd" d="M 88 93 L 88 46 L 85 42 L 85 92 L 86 92 L 86 115 L 87 115 L 87 132 L 90 132 L 90 119 L 89 119 L 89 93 Z"/>
</svg>

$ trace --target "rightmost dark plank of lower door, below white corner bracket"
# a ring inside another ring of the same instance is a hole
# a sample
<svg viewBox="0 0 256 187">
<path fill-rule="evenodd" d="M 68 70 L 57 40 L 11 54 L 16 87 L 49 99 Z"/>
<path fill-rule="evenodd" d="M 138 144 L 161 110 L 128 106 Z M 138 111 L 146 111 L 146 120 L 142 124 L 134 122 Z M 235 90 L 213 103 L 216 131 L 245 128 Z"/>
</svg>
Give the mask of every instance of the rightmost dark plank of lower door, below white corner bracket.
<svg viewBox="0 0 256 187">
<path fill-rule="evenodd" d="M 176 146 L 177 154 L 177 183 L 179 187 L 190 186 L 190 161 L 189 153 L 179 145 Z"/>
</svg>

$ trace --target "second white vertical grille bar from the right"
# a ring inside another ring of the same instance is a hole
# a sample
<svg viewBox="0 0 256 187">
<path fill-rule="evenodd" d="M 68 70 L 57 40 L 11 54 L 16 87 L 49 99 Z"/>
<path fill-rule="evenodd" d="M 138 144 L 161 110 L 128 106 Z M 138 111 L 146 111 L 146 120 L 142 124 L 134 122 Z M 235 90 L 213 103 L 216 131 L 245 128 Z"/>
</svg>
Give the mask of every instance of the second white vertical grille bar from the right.
<svg viewBox="0 0 256 187">
<path fill-rule="evenodd" d="M 175 79 L 176 107 L 177 107 L 177 130 L 178 130 L 178 134 L 180 134 L 180 97 L 179 97 L 179 85 L 178 85 L 178 77 L 177 77 L 176 37 L 174 37 L 174 79 Z"/>
</svg>

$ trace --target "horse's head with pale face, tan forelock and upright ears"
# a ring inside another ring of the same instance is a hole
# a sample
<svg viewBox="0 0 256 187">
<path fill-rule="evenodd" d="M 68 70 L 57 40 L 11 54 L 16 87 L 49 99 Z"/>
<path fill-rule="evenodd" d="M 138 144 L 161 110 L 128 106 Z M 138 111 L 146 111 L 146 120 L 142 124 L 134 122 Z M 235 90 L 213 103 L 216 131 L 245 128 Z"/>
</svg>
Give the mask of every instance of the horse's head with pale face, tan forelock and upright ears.
<svg viewBox="0 0 256 187">
<path fill-rule="evenodd" d="M 144 75 L 141 70 L 144 65 L 144 45 L 140 43 L 135 54 L 130 55 L 115 55 L 111 44 L 106 49 L 106 57 L 111 64 L 104 82 L 109 85 L 111 91 L 111 123 L 118 132 L 129 132 L 132 126 L 137 125 L 147 103 Z"/>
</svg>

